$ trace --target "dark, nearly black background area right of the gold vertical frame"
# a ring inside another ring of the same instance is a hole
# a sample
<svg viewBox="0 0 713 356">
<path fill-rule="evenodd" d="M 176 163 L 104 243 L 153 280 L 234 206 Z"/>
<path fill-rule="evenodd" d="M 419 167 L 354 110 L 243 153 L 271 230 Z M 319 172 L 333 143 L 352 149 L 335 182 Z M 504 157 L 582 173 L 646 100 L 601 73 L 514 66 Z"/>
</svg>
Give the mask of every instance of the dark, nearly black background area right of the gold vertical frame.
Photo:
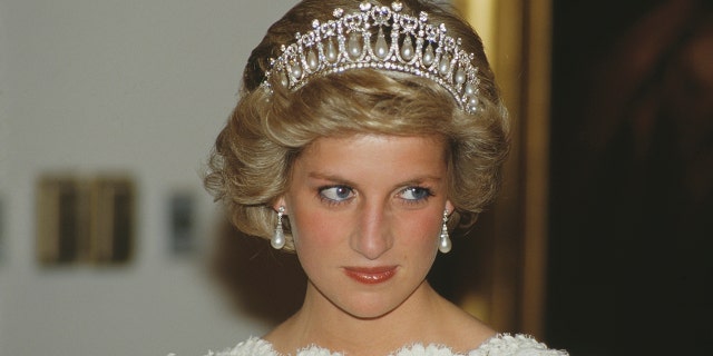
<svg viewBox="0 0 713 356">
<path fill-rule="evenodd" d="M 546 339 L 713 355 L 713 1 L 554 1 Z"/>
</svg>

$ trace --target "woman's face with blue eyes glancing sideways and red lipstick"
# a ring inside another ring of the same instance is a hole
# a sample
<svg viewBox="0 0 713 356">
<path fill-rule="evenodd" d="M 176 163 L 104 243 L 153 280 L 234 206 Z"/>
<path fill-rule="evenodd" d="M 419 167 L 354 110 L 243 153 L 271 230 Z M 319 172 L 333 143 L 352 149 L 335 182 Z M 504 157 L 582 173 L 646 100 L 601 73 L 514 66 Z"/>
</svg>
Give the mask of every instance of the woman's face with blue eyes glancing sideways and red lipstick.
<svg viewBox="0 0 713 356">
<path fill-rule="evenodd" d="M 419 295 L 452 211 L 446 172 L 443 144 L 429 137 L 321 138 L 305 149 L 280 204 L 306 301 L 373 318 Z"/>
</svg>

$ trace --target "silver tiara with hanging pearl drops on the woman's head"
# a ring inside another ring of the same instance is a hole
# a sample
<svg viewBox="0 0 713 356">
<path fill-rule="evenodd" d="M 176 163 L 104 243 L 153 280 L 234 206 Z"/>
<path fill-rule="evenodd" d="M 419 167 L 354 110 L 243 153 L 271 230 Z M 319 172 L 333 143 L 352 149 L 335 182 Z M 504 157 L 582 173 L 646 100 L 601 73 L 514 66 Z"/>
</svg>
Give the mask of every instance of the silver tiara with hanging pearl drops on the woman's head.
<svg viewBox="0 0 713 356">
<path fill-rule="evenodd" d="M 453 96 L 460 109 L 476 112 L 480 79 L 472 65 L 475 55 L 460 48 L 460 38 L 447 36 L 443 23 L 429 23 L 427 12 L 413 17 L 401 13 L 402 9 L 401 1 L 391 7 L 364 1 L 360 11 L 345 14 L 336 8 L 334 19 L 313 20 L 312 30 L 295 33 L 296 42 L 283 44 L 280 57 L 270 59 L 271 69 L 261 86 L 272 92 L 274 76 L 274 82 L 296 90 L 318 76 L 383 69 L 433 80 Z M 372 28 L 379 29 L 373 43 Z"/>
</svg>

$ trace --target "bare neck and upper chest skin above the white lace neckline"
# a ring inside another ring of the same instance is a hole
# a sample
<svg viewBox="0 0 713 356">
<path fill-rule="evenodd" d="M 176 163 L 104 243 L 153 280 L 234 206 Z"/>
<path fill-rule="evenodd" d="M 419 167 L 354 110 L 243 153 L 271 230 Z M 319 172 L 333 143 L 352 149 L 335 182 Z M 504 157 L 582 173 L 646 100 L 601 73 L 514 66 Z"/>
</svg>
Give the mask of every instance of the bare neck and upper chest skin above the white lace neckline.
<svg viewBox="0 0 713 356">
<path fill-rule="evenodd" d="M 350 356 L 387 355 L 414 343 L 445 344 L 457 349 L 461 345 L 452 344 L 452 338 L 459 336 L 455 334 L 456 328 L 466 329 L 470 340 L 479 338 L 471 334 L 473 323 L 481 325 L 439 296 L 426 281 L 399 307 L 369 319 L 345 313 L 309 285 L 300 312 L 265 338 L 282 354 L 318 345 Z M 480 342 L 492 335 L 492 330 L 484 328 Z M 466 346 L 473 346 L 471 344 Z"/>
</svg>

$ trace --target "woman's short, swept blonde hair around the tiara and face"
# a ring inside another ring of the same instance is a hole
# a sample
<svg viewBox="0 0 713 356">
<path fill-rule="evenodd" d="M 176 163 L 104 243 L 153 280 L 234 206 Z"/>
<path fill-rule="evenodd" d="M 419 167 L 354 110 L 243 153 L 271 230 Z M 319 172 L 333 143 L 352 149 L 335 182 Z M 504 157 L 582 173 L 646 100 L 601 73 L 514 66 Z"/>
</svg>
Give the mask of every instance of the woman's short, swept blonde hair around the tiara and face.
<svg viewBox="0 0 713 356">
<path fill-rule="evenodd" d="M 225 204 L 243 233 L 271 238 L 276 224 L 272 208 L 290 184 L 294 160 L 320 137 L 359 132 L 434 136 L 446 142 L 448 195 L 458 221 L 472 221 L 500 186 L 508 151 L 508 122 L 494 76 L 476 32 L 452 12 L 419 0 L 402 0 L 404 11 L 427 11 L 445 23 L 461 47 L 475 53 L 481 108 L 469 115 L 437 82 L 408 73 L 355 69 L 311 79 L 292 92 L 260 83 L 268 58 L 280 55 L 294 33 L 313 19 L 328 19 L 336 7 L 358 11 L 359 1 L 304 0 L 275 22 L 253 50 L 243 73 L 235 110 L 217 137 L 205 177 L 206 188 Z M 329 4 L 328 4 L 329 3 Z M 289 221 L 286 221 L 289 231 Z M 287 234 L 289 235 L 289 234 Z M 286 249 L 292 249 L 287 239 Z"/>
</svg>

